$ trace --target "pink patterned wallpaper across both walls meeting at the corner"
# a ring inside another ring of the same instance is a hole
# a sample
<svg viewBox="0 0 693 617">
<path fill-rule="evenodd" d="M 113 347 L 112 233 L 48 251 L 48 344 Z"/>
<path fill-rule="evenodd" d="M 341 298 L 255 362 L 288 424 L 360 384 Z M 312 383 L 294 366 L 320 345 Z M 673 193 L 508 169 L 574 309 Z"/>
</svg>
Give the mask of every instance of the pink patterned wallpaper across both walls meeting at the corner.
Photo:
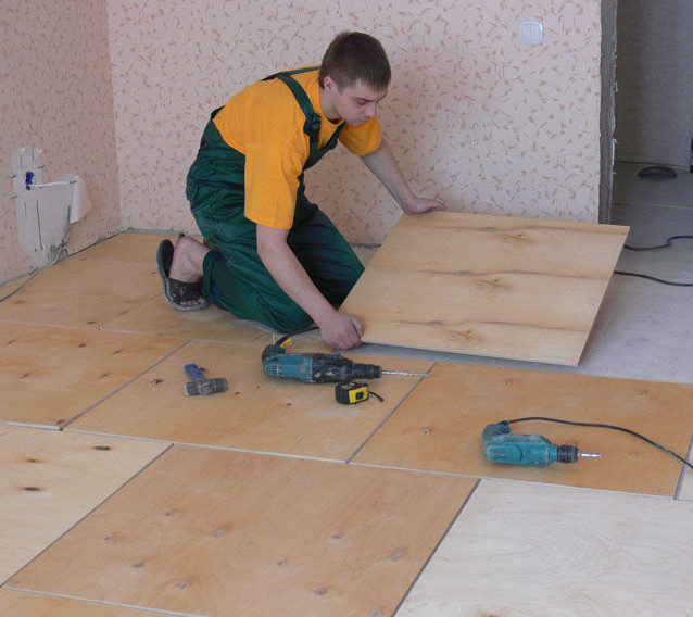
<svg viewBox="0 0 693 617">
<path fill-rule="evenodd" d="M 249 81 L 318 62 L 341 29 L 374 34 L 390 55 L 394 80 L 381 119 L 415 190 L 454 210 L 597 218 L 600 0 L 0 8 L 5 178 L 21 146 L 46 150 L 45 180 L 85 178 L 94 210 L 73 226 L 72 251 L 122 228 L 194 230 L 185 175 L 210 111 Z M 519 46 L 527 18 L 543 21 L 543 46 Z M 381 241 L 400 215 L 344 149 L 307 184 L 352 241 Z M 0 281 L 29 268 L 11 184 L 3 186 Z"/>
</svg>

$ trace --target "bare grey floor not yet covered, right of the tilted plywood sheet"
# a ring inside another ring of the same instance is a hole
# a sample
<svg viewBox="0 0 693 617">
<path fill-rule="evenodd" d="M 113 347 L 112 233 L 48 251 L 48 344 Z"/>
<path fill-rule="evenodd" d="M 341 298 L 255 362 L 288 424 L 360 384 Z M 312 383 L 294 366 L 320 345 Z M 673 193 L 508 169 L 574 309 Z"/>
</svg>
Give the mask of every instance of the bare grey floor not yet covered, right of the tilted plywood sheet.
<svg viewBox="0 0 693 617">
<path fill-rule="evenodd" d="M 693 182 L 691 196 L 692 207 L 623 204 L 615 199 L 612 221 L 631 227 L 627 243 L 633 245 L 660 244 L 672 235 L 693 235 Z M 376 249 L 357 248 L 357 252 L 367 262 Z M 693 240 L 679 240 L 656 251 L 623 250 L 616 269 L 693 282 Z M 352 350 L 350 355 L 361 353 L 693 383 L 693 287 L 614 275 L 577 367 L 373 343 Z"/>
</svg>

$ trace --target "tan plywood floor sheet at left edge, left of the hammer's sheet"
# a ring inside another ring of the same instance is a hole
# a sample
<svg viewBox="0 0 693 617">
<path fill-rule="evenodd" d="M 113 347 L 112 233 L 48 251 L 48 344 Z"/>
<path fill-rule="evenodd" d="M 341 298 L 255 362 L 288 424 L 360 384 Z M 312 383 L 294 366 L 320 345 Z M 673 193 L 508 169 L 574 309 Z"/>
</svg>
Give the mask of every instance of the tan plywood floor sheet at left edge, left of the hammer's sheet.
<svg viewBox="0 0 693 617">
<path fill-rule="evenodd" d="M 0 322 L 0 420 L 63 426 L 184 342 Z"/>
</svg>

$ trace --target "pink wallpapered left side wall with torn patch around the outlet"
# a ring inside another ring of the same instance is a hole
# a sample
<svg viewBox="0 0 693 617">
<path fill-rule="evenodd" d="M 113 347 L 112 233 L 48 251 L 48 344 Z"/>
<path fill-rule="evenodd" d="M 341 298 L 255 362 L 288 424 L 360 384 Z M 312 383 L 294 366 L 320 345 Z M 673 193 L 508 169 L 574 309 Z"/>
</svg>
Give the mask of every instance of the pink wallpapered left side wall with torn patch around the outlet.
<svg viewBox="0 0 693 617">
<path fill-rule="evenodd" d="M 18 244 L 11 155 L 42 148 L 43 181 L 79 174 L 93 210 L 75 251 L 121 228 L 105 0 L 0 0 L 0 282 L 30 269 Z"/>
</svg>

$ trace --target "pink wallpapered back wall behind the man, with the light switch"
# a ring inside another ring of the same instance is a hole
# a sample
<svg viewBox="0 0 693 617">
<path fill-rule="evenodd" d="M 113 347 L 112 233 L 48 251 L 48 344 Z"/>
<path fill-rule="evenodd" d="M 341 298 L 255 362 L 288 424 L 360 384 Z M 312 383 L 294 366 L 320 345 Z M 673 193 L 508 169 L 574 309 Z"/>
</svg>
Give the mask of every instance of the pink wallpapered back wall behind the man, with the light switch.
<svg viewBox="0 0 693 617">
<path fill-rule="evenodd" d="M 452 210 L 595 222 L 600 0 L 108 0 L 125 227 L 194 229 L 184 194 L 209 113 L 245 84 L 319 62 L 342 29 L 394 72 L 386 135 L 415 190 Z M 544 45 L 520 46 L 521 21 Z M 308 194 L 355 242 L 400 216 L 340 148 Z"/>
</svg>

